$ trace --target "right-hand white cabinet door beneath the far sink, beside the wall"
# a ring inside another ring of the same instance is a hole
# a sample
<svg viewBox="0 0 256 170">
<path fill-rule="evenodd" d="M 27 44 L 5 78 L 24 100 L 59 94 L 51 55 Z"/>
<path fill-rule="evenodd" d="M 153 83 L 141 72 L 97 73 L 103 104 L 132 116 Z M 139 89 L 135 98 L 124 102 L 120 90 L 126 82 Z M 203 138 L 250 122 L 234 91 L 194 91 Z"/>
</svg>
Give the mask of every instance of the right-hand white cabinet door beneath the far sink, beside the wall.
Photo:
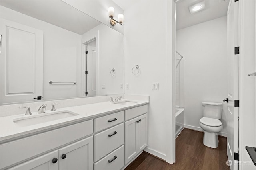
<svg viewBox="0 0 256 170">
<path fill-rule="evenodd" d="M 148 114 L 138 117 L 138 153 L 148 145 Z"/>
</svg>

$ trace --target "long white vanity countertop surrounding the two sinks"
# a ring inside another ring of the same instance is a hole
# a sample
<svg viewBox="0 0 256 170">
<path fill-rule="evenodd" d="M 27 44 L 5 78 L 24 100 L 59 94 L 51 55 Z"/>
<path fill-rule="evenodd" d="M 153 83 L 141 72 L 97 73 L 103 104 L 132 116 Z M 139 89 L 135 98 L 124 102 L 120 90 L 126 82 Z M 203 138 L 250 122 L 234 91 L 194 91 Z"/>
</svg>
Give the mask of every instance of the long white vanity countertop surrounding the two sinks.
<svg viewBox="0 0 256 170">
<path fill-rule="evenodd" d="M 99 116 L 107 115 L 109 113 L 123 111 L 126 109 L 130 109 L 137 106 L 142 106 L 148 104 L 148 101 L 139 101 L 139 100 L 122 100 L 134 102 L 129 105 L 120 105 L 114 104 L 110 102 L 100 102 L 94 104 L 85 104 L 81 106 L 73 106 L 73 107 L 65 107 L 61 109 L 56 109 L 57 111 L 71 111 L 77 113 L 78 115 L 67 117 L 63 119 L 58 119 L 54 121 L 48 121 L 46 123 L 39 123 L 36 125 L 30 125 L 26 127 L 17 127 L 13 119 L 28 117 L 30 115 L 12 115 L 6 117 L 0 117 L 0 143 L 8 142 L 14 139 L 19 139 L 21 137 L 26 137 L 29 135 L 34 135 L 36 133 L 41 133 L 44 131 L 49 131 L 52 129 L 56 129 L 59 127 L 64 127 L 65 125 L 70 125 L 74 123 L 78 123 L 81 121 L 86 121 L 90 119 L 94 119 Z M 135 103 L 136 102 L 136 103 Z M 32 115 L 43 115 L 53 113 L 50 110 L 47 110 L 46 113 L 38 114 L 37 112 L 33 112 Z"/>
</svg>

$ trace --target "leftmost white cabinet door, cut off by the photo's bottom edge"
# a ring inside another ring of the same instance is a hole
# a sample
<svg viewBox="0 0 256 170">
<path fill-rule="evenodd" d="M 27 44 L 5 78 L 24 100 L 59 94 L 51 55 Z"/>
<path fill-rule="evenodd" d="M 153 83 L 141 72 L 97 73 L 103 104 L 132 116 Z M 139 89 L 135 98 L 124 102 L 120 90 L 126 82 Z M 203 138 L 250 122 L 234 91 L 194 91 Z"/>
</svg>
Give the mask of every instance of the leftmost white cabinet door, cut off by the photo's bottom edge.
<svg viewBox="0 0 256 170">
<path fill-rule="evenodd" d="M 58 150 L 14 166 L 8 170 L 58 170 Z"/>
</svg>

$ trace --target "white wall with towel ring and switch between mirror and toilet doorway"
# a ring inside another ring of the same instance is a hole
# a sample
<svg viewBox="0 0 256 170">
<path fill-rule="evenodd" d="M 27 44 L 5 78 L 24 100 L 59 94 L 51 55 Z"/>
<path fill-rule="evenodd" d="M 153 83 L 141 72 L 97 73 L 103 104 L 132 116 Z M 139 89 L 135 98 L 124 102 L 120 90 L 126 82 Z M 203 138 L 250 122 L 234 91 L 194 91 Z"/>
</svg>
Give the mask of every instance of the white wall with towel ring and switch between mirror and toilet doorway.
<svg viewBox="0 0 256 170">
<path fill-rule="evenodd" d="M 150 152 L 172 163 L 172 1 L 138 0 L 124 12 L 125 94 L 150 95 L 148 147 Z M 157 14 L 155 11 L 157 9 Z M 132 68 L 140 66 L 140 74 Z M 159 90 L 152 90 L 152 83 Z"/>
</svg>

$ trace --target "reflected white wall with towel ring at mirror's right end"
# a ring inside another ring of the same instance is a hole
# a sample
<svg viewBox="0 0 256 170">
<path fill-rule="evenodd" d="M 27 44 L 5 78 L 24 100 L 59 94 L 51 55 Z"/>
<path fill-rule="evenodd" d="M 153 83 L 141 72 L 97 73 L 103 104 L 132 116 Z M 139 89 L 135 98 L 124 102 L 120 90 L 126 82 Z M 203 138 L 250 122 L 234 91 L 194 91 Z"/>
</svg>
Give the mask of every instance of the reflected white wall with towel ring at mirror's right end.
<svg viewBox="0 0 256 170">
<path fill-rule="evenodd" d="M 97 95 L 123 93 L 120 84 L 124 84 L 124 35 L 100 24 L 82 35 L 82 43 L 95 37 L 98 56 Z M 112 68 L 115 69 L 114 76 L 110 76 Z M 102 89 L 102 84 L 105 84 L 105 89 Z"/>
</svg>

